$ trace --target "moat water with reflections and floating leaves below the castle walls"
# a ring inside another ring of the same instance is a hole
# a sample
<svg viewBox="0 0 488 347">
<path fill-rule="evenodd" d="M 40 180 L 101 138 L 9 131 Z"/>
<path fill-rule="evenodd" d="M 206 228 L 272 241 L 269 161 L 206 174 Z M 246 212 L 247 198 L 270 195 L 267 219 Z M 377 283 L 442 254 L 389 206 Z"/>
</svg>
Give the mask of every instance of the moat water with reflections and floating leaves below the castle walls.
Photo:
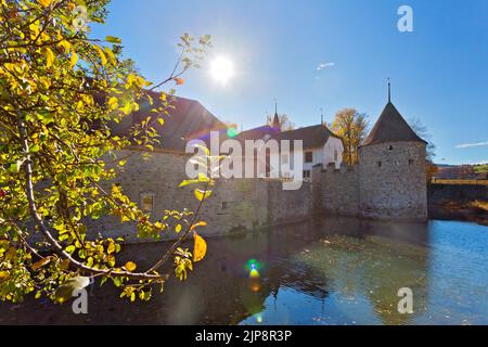
<svg viewBox="0 0 488 347">
<path fill-rule="evenodd" d="M 126 246 L 123 257 L 143 268 L 164 249 Z M 412 314 L 398 312 L 402 287 Z M 338 218 L 210 239 L 187 282 L 150 303 L 118 294 L 90 288 L 81 316 L 47 300 L 0 304 L 0 324 L 488 324 L 488 227 Z"/>
</svg>

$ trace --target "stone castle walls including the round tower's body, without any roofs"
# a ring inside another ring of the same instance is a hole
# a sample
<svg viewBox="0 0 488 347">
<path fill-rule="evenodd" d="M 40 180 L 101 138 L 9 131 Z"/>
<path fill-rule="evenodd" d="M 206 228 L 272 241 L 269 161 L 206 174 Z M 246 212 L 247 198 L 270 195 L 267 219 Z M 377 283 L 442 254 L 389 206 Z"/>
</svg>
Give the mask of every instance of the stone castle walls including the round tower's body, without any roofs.
<svg viewBox="0 0 488 347">
<path fill-rule="evenodd" d="M 145 155 L 144 155 L 145 154 Z M 195 210 L 193 189 L 178 188 L 187 179 L 190 156 L 156 151 L 126 150 L 127 160 L 117 181 L 131 201 L 141 204 L 141 194 L 154 196 L 152 217 L 159 220 L 165 210 Z M 207 227 L 202 234 L 227 234 L 255 230 L 313 216 L 359 216 L 376 219 L 427 218 L 425 145 L 422 143 L 378 144 L 361 149 L 360 165 L 336 170 L 316 166 L 312 183 L 285 191 L 282 182 L 268 179 L 219 179 L 213 195 L 201 210 Z M 116 218 L 91 222 L 92 229 L 111 236 L 137 240 L 136 223 L 121 224 Z M 163 239 L 175 237 L 168 232 Z"/>
</svg>

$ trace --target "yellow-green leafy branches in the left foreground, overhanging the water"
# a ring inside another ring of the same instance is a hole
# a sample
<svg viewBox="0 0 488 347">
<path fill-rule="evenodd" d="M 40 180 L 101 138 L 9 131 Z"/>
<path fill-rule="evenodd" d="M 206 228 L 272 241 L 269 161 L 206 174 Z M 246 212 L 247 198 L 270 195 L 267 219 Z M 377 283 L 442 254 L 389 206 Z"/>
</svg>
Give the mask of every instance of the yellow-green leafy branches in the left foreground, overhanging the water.
<svg viewBox="0 0 488 347">
<path fill-rule="evenodd" d="M 165 216 L 142 211 L 121 187 L 107 182 L 125 165 L 117 151 L 131 143 L 151 150 L 158 141 L 153 125 L 164 124 L 174 91 L 158 92 L 156 106 L 146 90 L 183 83 L 209 37 L 182 36 L 172 73 L 153 85 L 123 59 L 120 39 L 89 36 L 82 22 L 103 23 L 107 0 L 0 1 L 0 299 L 18 303 L 35 292 L 64 301 L 98 279 L 111 280 L 130 300 L 147 300 L 152 284 L 163 288 L 170 271 L 185 278 L 193 269 L 180 245 L 204 226 L 197 215 L 213 181 L 191 182 L 202 196 L 197 210 Z M 112 136 L 111 125 L 138 111 L 143 95 L 152 110 L 132 129 L 132 142 Z M 104 216 L 137 223 L 141 237 L 158 239 L 176 228 L 179 239 L 151 269 L 137 272 L 133 261 L 117 261 L 121 239 L 87 228 L 88 219 Z"/>
</svg>

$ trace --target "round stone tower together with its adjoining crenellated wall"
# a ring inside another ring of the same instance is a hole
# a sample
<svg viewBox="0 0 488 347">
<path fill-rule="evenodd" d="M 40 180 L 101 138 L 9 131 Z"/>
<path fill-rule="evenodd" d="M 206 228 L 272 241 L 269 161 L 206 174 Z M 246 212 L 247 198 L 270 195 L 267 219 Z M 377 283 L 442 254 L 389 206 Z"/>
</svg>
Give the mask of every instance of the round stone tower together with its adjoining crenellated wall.
<svg viewBox="0 0 488 347">
<path fill-rule="evenodd" d="M 319 210 L 376 219 L 427 219 L 427 143 L 388 100 L 363 145 L 359 164 L 313 170 Z"/>
</svg>

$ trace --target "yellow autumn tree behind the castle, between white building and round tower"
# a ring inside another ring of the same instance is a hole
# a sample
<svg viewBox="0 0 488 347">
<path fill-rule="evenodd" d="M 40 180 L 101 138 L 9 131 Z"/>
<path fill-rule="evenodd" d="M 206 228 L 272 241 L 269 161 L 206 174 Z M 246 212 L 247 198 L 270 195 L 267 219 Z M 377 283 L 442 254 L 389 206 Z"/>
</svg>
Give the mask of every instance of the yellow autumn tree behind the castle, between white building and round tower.
<svg viewBox="0 0 488 347">
<path fill-rule="evenodd" d="M 367 118 L 354 108 L 344 108 L 337 112 L 332 124 L 331 130 L 343 138 L 344 158 L 349 165 L 359 162 L 359 146 L 367 136 Z"/>
</svg>

